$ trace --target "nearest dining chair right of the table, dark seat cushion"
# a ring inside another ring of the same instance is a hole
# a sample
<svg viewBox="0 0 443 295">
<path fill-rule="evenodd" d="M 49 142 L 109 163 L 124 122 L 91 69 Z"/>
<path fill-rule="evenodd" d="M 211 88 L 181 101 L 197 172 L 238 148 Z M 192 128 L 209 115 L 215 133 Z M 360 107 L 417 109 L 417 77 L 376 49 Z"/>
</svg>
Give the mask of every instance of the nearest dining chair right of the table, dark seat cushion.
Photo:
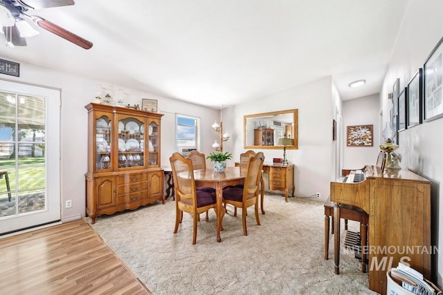
<svg viewBox="0 0 443 295">
<path fill-rule="evenodd" d="M 260 218 L 258 217 L 258 193 L 263 162 L 264 155 L 262 152 L 256 153 L 253 157 L 249 158 L 246 164 L 243 188 L 233 187 L 223 191 L 224 204 L 231 204 L 236 208 L 242 208 L 244 236 L 248 236 L 246 229 L 246 211 L 248 207 L 255 206 L 255 220 L 257 221 L 257 225 L 260 225 Z"/>
</svg>

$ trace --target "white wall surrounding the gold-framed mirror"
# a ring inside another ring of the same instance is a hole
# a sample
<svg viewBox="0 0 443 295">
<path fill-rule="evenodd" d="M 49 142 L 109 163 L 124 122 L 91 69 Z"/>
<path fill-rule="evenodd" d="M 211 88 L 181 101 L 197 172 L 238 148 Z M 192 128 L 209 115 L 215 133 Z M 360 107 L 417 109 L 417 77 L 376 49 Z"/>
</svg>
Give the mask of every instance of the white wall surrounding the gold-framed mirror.
<svg viewBox="0 0 443 295">
<path fill-rule="evenodd" d="M 224 125 L 233 137 L 226 144 L 234 159 L 244 152 L 243 116 L 298 108 L 298 149 L 288 149 L 287 159 L 295 164 L 295 196 L 307 197 L 316 192 L 323 200 L 329 196 L 332 169 L 332 79 L 325 77 L 314 82 L 290 88 L 280 93 L 238 104 L 224 112 Z M 225 115 L 226 114 L 226 115 Z M 232 127 L 231 127 L 232 124 Z M 265 162 L 282 158 L 282 149 L 257 149 Z"/>
</svg>

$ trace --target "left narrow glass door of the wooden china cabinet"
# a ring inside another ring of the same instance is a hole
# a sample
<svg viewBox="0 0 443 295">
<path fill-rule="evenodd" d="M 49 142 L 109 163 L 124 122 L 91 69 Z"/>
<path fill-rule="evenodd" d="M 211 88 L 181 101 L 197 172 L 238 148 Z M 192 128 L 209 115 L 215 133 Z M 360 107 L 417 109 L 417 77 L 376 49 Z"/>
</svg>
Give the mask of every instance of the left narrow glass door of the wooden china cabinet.
<svg viewBox="0 0 443 295">
<path fill-rule="evenodd" d="M 93 122 L 93 158 L 95 171 L 111 171 L 112 166 L 112 113 L 96 112 Z"/>
</svg>

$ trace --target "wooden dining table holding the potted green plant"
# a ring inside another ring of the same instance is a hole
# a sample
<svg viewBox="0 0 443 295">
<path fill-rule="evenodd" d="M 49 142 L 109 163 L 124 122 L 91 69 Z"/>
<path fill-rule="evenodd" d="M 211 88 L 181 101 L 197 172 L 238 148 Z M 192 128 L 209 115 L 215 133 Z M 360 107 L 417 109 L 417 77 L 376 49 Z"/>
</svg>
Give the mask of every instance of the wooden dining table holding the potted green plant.
<svg viewBox="0 0 443 295">
<path fill-rule="evenodd" d="M 223 220 L 224 216 L 223 188 L 228 185 L 243 183 L 244 177 L 245 173 L 240 173 L 239 167 L 226 167 L 225 172 L 215 172 L 214 169 L 199 169 L 194 171 L 194 179 L 197 187 L 213 187 L 215 189 L 217 196 L 217 242 L 221 242 L 221 220 Z"/>
</svg>

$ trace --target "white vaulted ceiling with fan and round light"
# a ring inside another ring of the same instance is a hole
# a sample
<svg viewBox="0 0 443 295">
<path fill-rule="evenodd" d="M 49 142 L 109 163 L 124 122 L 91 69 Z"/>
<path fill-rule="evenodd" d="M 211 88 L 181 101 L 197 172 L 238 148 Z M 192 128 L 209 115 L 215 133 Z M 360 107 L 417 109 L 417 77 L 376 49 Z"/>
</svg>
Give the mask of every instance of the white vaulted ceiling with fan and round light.
<svg viewBox="0 0 443 295">
<path fill-rule="evenodd" d="M 42 28 L 0 55 L 219 108 L 331 75 L 343 99 L 379 93 L 408 1 L 76 0 L 29 11 Z M 3 38 L 0 35 L 0 38 Z M 349 88 L 356 79 L 365 86 Z"/>
</svg>

